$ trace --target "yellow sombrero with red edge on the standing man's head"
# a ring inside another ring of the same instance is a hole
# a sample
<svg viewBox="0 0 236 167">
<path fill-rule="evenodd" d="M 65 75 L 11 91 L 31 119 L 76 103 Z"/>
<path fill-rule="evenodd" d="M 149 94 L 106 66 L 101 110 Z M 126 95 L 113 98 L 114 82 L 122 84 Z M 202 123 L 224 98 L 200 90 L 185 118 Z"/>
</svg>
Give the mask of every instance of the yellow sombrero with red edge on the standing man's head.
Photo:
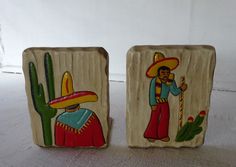
<svg viewBox="0 0 236 167">
<path fill-rule="evenodd" d="M 154 78 L 157 76 L 157 71 L 160 67 L 166 66 L 169 67 L 170 70 L 176 69 L 179 65 L 179 60 L 175 57 L 165 58 L 164 54 L 161 52 L 155 52 L 153 56 L 153 64 L 148 68 L 146 75 L 149 78 Z"/>
</svg>

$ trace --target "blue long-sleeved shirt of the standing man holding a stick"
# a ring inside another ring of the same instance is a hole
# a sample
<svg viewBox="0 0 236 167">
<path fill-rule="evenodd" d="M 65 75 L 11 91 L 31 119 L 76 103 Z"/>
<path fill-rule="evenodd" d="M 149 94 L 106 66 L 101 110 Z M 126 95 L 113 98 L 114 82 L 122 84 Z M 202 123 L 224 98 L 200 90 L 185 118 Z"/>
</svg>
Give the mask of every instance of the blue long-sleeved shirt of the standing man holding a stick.
<svg viewBox="0 0 236 167">
<path fill-rule="evenodd" d="M 157 77 L 153 78 L 150 83 L 149 88 L 149 103 L 150 106 L 157 105 L 156 100 L 156 79 Z M 161 84 L 161 99 L 168 98 L 169 92 L 171 92 L 174 96 L 177 96 L 181 93 L 180 88 L 177 87 L 175 80 L 170 85 L 167 85 L 165 83 Z"/>
</svg>

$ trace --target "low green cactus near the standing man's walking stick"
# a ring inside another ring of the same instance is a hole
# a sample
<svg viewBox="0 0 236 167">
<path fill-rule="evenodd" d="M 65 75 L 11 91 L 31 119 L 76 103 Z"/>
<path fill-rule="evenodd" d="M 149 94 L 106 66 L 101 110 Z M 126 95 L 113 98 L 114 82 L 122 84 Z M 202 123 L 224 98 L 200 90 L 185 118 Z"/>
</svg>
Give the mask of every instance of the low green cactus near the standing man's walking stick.
<svg viewBox="0 0 236 167">
<path fill-rule="evenodd" d="M 186 122 L 184 126 L 178 131 L 175 141 L 176 142 L 183 142 L 183 141 L 189 141 L 192 140 L 196 135 L 202 132 L 202 127 L 200 125 L 202 124 L 205 117 L 204 115 L 201 115 L 201 112 L 197 115 L 194 122 Z"/>
</svg>

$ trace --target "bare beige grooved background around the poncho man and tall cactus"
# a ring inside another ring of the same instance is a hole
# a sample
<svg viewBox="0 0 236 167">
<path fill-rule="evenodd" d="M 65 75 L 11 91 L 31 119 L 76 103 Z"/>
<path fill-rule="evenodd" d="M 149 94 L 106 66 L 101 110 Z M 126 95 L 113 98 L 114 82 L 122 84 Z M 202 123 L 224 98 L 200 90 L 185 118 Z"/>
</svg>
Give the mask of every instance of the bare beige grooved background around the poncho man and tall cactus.
<svg viewBox="0 0 236 167">
<path fill-rule="evenodd" d="M 107 143 L 109 131 L 108 54 L 103 48 L 98 47 L 29 48 L 24 51 L 23 71 L 34 142 L 40 146 L 44 146 L 41 119 L 35 111 L 32 101 L 29 62 L 35 64 L 38 81 L 43 84 L 46 102 L 48 102 L 44 68 L 44 54 L 46 52 L 49 52 L 52 58 L 55 97 L 61 96 L 61 81 L 66 71 L 69 71 L 72 75 L 75 91 L 93 91 L 97 94 L 97 102 L 81 104 L 81 108 L 88 108 L 96 113 L 102 124 L 103 134 Z M 57 115 L 51 119 L 52 134 L 54 134 L 55 118 L 64 111 L 63 109 L 58 109 Z M 54 137 L 54 135 L 52 136 Z"/>
</svg>

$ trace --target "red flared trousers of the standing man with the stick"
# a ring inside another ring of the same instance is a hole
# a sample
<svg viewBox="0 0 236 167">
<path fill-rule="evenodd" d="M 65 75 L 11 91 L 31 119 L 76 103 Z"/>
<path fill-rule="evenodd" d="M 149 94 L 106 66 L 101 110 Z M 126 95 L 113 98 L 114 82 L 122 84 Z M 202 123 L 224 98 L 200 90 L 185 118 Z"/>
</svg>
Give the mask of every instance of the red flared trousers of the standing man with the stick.
<svg viewBox="0 0 236 167">
<path fill-rule="evenodd" d="M 169 119 L 170 111 L 168 102 L 157 104 L 156 110 L 152 110 L 144 137 L 155 140 L 168 137 Z"/>
</svg>

